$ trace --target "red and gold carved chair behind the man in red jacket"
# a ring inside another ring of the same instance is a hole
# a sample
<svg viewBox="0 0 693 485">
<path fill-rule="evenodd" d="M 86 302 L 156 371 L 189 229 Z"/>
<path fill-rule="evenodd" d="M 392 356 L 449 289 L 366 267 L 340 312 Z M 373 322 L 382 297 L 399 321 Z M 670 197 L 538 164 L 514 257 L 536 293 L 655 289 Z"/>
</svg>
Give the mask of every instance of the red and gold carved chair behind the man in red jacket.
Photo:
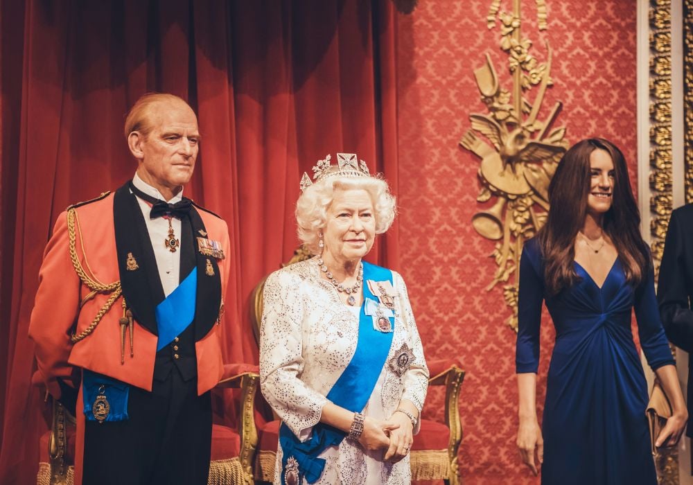
<svg viewBox="0 0 693 485">
<path fill-rule="evenodd" d="M 32 382 L 44 389 L 37 371 Z M 251 364 L 226 364 L 222 380 L 212 390 L 213 425 L 208 485 L 252 485 L 253 459 L 258 435 L 253 418 L 259 382 L 258 368 Z M 227 405 L 236 408 L 238 423 L 225 420 Z M 40 439 L 37 485 L 72 485 L 75 463 L 76 420 L 46 393 L 44 418 L 49 430 Z"/>
</svg>

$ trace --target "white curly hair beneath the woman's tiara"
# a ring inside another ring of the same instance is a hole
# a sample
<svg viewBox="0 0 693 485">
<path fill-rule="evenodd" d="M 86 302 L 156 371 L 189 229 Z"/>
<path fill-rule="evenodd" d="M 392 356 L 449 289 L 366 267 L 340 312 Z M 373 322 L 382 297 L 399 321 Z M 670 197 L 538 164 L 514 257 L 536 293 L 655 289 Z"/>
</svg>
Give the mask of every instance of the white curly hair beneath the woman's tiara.
<svg viewBox="0 0 693 485">
<path fill-rule="evenodd" d="M 296 202 L 298 236 L 313 254 L 319 254 L 318 233 L 327 222 L 327 210 L 332 204 L 335 189 L 363 189 L 371 196 L 376 234 L 382 234 L 392 226 L 396 214 L 395 197 L 385 180 L 376 177 L 325 177 L 306 187 Z"/>
</svg>

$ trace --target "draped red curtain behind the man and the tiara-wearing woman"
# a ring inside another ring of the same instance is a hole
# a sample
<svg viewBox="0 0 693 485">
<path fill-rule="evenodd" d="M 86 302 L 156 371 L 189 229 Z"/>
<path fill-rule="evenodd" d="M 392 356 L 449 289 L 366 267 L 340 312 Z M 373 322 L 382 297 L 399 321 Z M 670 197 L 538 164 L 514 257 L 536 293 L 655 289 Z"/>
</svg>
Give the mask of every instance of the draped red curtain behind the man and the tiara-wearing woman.
<svg viewBox="0 0 693 485">
<path fill-rule="evenodd" d="M 299 179 L 357 152 L 396 193 L 396 13 L 373 1 L 0 0 L 0 482 L 35 479 L 41 397 L 26 337 L 51 227 L 136 164 L 122 133 L 141 94 L 199 116 L 186 195 L 229 223 L 225 353 L 256 362 L 249 294 L 297 245 Z M 396 227 L 373 259 L 397 267 Z"/>
</svg>

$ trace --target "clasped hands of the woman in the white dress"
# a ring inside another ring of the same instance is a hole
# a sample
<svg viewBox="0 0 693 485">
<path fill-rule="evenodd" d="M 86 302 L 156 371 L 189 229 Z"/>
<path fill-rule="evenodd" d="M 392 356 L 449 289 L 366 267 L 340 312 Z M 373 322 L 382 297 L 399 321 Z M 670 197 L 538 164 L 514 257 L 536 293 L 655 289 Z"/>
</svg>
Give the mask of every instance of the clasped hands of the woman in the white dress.
<svg viewBox="0 0 693 485">
<path fill-rule="evenodd" d="M 412 421 L 402 413 L 395 413 L 387 421 L 366 417 L 358 441 L 366 450 L 382 451 L 384 461 L 396 463 L 409 453 L 413 435 Z"/>
</svg>

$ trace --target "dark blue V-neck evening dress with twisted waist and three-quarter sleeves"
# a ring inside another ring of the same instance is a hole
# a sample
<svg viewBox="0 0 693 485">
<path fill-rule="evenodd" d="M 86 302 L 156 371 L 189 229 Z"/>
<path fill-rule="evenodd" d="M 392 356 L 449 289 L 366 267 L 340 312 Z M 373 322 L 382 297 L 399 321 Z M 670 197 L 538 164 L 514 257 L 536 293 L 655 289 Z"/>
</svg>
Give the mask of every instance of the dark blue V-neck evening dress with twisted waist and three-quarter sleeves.
<svg viewBox="0 0 693 485">
<path fill-rule="evenodd" d="M 556 343 L 547 376 L 542 423 L 543 485 L 653 485 L 647 383 L 631 333 L 631 309 L 640 346 L 652 369 L 674 364 L 660 321 L 653 274 L 634 288 L 617 258 L 602 288 L 574 263 L 579 281 L 552 297 L 544 292 L 536 238 L 520 258 L 518 373 L 536 373 L 541 302 Z"/>
</svg>

